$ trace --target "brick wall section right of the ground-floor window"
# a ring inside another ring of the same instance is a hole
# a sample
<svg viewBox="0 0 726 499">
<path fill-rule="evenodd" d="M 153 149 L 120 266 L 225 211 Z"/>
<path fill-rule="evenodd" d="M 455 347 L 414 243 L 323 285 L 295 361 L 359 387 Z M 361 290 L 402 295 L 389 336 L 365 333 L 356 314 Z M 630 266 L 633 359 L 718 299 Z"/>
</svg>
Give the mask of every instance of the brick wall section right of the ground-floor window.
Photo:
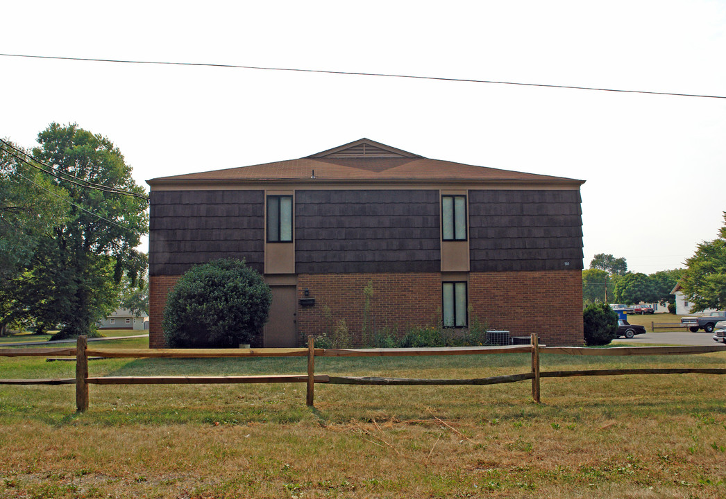
<svg viewBox="0 0 726 499">
<path fill-rule="evenodd" d="M 536 332 L 549 346 L 584 342 L 580 271 L 473 272 L 469 303 L 491 329 L 511 336 Z"/>
</svg>

